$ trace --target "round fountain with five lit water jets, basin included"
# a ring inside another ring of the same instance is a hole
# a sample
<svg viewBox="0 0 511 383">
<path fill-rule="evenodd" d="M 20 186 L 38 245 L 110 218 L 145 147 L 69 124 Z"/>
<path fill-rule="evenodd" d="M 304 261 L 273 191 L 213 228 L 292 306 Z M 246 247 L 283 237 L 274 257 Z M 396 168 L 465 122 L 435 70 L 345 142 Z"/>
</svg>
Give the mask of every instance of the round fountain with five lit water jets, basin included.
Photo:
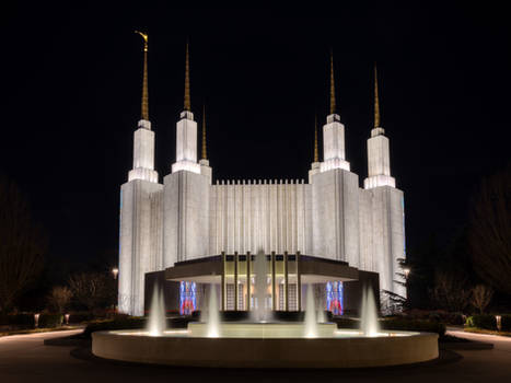
<svg viewBox="0 0 511 383">
<path fill-rule="evenodd" d="M 264 254 L 255 257 L 254 266 L 251 321 L 221 322 L 217 288 L 211 285 L 206 321 L 190 322 L 185 329 L 165 330 L 163 297 L 154 288 L 147 330 L 93 333 L 92 352 L 131 362 L 216 368 L 360 368 L 438 358 L 437 334 L 379 330 L 370 288 L 362 297 L 360 330 L 324 323 L 323 312 L 316 314 L 312 283 L 306 288 L 304 322 L 269 321 Z"/>
</svg>

